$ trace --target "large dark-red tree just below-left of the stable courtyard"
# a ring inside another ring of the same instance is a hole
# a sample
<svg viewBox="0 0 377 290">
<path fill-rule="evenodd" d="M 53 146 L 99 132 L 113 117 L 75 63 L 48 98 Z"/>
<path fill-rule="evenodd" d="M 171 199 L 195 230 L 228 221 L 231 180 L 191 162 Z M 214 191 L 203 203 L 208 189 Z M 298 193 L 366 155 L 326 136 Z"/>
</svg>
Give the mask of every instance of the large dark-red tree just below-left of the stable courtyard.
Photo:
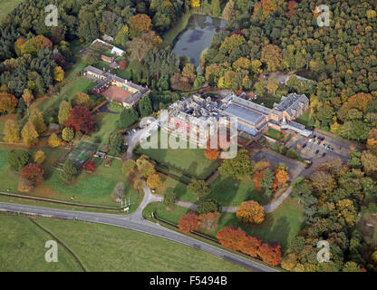
<svg viewBox="0 0 377 290">
<path fill-rule="evenodd" d="M 86 107 L 74 107 L 67 121 L 63 122 L 65 127 L 72 128 L 73 131 L 90 133 L 94 131 L 95 125 L 91 111 Z"/>
</svg>

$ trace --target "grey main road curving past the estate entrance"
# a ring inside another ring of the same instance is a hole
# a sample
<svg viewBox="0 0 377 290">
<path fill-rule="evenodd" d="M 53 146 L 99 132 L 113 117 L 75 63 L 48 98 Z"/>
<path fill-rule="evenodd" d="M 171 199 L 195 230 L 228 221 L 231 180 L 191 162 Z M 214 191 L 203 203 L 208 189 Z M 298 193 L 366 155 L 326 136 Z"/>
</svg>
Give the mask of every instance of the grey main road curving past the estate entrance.
<svg viewBox="0 0 377 290">
<path fill-rule="evenodd" d="M 247 259 L 246 257 L 238 256 L 219 247 L 208 245 L 207 243 L 201 242 L 195 238 L 187 237 L 178 232 L 170 230 L 169 228 L 161 227 L 142 218 L 135 218 L 139 216 L 139 213 L 135 215 L 131 214 L 129 216 L 120 216 L 55 208 L 24 206 L 5 202 L 0 203 L 0 211 L 13 212 L 44 218 L 64 218 L 71 220 L 81 220 L 86 222 L 110 225 L 114 227 L 128 228 L 155 237 L 162 237 L 185 246 L 194 247 L 198 250 L 202 250 L 209 254 L 231 261 L 232 263 L 235 263 L 237 265 L 244 266 L 251 271 L 278 272 L 275 268 L 272 268 L 270 266 L 265 266 L 262 263 L 258 263 L 254 260 Z"/>
</svg>

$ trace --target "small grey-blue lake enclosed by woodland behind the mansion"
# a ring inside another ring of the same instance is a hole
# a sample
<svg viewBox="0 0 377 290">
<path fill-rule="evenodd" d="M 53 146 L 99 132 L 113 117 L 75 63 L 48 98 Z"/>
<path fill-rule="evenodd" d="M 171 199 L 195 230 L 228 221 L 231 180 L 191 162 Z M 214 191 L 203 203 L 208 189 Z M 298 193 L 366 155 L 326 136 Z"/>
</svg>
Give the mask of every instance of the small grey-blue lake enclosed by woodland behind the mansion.
<svg viewBox="0 0 377 290">
<path fill-rule="evenodd" d="M 173 53 L 189 57 L 191 63 L 198 66 L 201 52 L 210 47 L 213 35 L 226 26 L 227 22 L 221 18 L 192 15 L 185 31 L 179 34 Z"/>
</svg>

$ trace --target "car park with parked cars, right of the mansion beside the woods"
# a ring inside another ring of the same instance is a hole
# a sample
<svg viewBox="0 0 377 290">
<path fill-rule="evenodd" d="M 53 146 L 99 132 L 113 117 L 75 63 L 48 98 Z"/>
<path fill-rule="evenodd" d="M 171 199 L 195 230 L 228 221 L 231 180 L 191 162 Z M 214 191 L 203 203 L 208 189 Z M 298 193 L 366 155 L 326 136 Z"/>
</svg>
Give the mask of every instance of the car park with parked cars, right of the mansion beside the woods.
<svg viewBox="0 0 377 290">
<path fill-rule="evenodd" d="M 347 162 L 351 150 L 347 143 L 315 132 L 309 138 L 296 135 L 286 145 L 288 149 L 297 150 L 302 158 L 312 161 L 331 157 Z"/>
</svg>

